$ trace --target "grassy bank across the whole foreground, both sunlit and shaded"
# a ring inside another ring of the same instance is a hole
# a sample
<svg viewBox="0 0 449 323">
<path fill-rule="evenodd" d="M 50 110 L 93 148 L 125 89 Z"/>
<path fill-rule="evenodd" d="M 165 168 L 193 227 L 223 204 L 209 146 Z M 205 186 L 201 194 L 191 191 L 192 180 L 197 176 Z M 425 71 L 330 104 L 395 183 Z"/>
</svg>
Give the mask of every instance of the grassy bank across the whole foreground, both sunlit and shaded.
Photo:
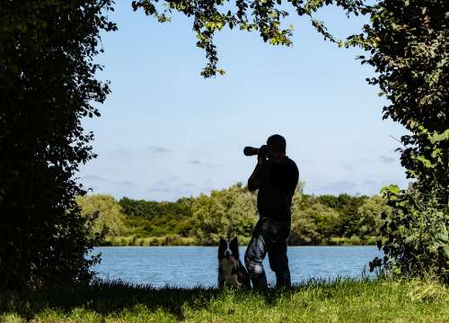
<svg viewBox="0 0 449 323">
<path fill-rule="evenodd" d="M 180 289 L 93 283 L 0 293 L 0 321 L 448 322 L 447 287 L 421 281 L 310 281 L 290 291 Z"/>
</svg>

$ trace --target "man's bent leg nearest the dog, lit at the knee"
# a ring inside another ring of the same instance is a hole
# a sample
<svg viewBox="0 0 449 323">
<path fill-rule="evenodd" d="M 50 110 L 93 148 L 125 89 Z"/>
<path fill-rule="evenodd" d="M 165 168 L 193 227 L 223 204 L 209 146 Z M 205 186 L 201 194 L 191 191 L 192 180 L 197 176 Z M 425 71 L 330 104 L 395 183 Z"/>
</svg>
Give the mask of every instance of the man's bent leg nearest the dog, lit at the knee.
<svg viewBox="0 0 449 323">
<path fill-rule="evenodd" d="M 262 261 L 267 255 L 267 245 L 260 235 L 253 235 L 245 252 L 246 270 L 251 277 L 252 287 L 261 292 L 268 292 L 267 276 L 263 270 Z"/>
</svg>

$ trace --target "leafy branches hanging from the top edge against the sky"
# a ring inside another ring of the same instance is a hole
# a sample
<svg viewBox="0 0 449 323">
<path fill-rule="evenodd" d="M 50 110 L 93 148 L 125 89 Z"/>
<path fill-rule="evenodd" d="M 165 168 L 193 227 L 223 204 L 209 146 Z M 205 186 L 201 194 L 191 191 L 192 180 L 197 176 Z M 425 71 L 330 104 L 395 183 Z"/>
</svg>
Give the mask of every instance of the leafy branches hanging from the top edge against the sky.
<svg viewBox="0 0 449 323">
<path fill-rule="evenodd" d="M 288 0 L 295 12 L 310 19 L 316 31 L 324 39 L 337 42 L 327 30 L 323 22 L 314 18 L 314 14 L 321 7 L 336 4 L 343 8 L 347 15 L 365 12 L 364 0 Z M 234 5 L 230 4 L 233 3 Z M 218 62 L 214 35 L 226 26 L 230 29 L 239 28 L 242 31 L 259 31 L 263 41 L 271 45 L 290 46 L 290 36 L 293 27 L 281 28 L 282 19 L 288 13 L 282 7 L 281 0 L 136 0 L 132 7 L 136 11 L 142 9 L 146 15 L 153 16 L 159 22 L 169 22 L 172 11 L 177 11 L 193 18 L 193 31 L 197 33 L 197 47 L 204 49 L 207 65 L 201 75 L 205 77 L 216 76 L 216 73 L 225 74 L 225 70 L 217 68 Z"/>
</svg>

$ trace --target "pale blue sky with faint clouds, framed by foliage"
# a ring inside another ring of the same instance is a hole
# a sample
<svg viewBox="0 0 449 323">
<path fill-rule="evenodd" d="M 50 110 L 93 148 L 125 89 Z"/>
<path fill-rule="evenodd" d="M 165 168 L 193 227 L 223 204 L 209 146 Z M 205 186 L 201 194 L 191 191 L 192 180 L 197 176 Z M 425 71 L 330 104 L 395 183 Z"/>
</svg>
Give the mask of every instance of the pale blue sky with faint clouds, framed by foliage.
<svg viewBox="0 0 449 323">
<path fill-rule="evenodd" d="M 91 193 L 117 199 L 175 201 L 246 184 L 259 147 L 275 133 L 299 168 L 304 192 L 374 194 L 386 184 L 406 186 L 397 139 L 403 128 L 383 121 L 388 102 L 366 77 L 358 49 L 324 41 L 296 15 L 293 47 L 273 47 L 256 32 L 216 35 L 225 76 L 199 75 L 205 54 L 195 46 L 191 20 L 174 14 L 158 23 L 119 0 L 109 13 L 119 31 L 104 33 L 98 76 L 112 93 L 100 118 L 84 120 L 98 157 L 80 167 Z M 360 31 L 364 18 L 340 10 L 320 13 L 334 34 Z"/>
</svg>

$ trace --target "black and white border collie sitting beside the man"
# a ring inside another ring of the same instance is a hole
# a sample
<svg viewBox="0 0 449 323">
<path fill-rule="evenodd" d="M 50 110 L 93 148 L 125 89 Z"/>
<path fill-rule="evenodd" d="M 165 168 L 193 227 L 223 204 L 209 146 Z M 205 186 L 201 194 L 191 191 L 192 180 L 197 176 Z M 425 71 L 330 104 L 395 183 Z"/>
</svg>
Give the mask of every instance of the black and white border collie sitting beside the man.
<svg viewBox="0 0 449 323">
<path fill-rule="evenodd" d="M 251 289 L 250 275 L 240 261 L 237 237 L 230 243 L 220 238 L 218 245 L 218 287 L 225 285 Z"/>
</svg>

